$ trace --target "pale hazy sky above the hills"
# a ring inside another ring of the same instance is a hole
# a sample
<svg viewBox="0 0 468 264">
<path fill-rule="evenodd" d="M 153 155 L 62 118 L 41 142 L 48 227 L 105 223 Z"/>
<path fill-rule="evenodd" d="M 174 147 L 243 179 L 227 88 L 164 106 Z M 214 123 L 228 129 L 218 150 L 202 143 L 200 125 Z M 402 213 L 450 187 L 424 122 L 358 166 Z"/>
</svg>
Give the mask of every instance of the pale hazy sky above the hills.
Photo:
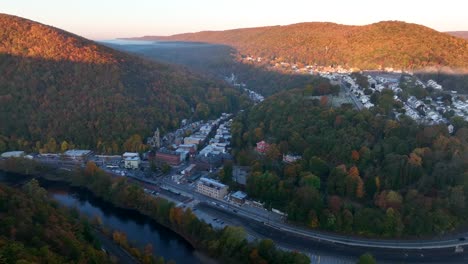
<svg viewBox="0 0 468 264">
<path fill-rule="evenodd" d="M 3 0 L 0 12 L 91 39 L 328 21 L 468 30 L 467 0 Z"/>
</svg>

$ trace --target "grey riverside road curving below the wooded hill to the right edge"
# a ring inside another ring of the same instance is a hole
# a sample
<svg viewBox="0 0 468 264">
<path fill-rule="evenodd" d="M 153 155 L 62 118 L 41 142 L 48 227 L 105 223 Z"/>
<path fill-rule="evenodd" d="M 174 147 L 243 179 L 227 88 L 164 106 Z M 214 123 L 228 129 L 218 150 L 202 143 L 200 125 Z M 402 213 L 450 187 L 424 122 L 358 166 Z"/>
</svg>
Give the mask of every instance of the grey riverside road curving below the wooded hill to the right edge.
<svg viewBox="0 0 468 264">
<path fill-rule="evenodd" d="M 40 161 L 40 160 L 39 160 Z M 40 161 L 41 162 L 41 161 Z M 60 164 L 59 161 L 47 160 L 44 163 L 70 170 L 76 164 Z M 60 164 L 60 165 L 59 165 Z M 172 174 L 172 173 L 171 173 Z M 359 256 L 370 252 L 379 260 L 420 263 L 468 263 L 467 233 L 421 240 L 383 240 L 357 238 L 339 234 L 325 233 L 304 229 L 283 222 L 268 211 L 258 212 L 244 209 L 243 206 L 213 199 L 195 192 L 188 184 L 176 184 L 170 176 L 158 181 L 138 179 L 146 185 L 156 188 L 164 186 L 182 196 L 198 201 L 195 208 L 212 215 L 230 219 L 246 228 L 256 237 L 270 238 L 279 246 L 310 254 L 315 250 L 329 252 L 339 256 Z M 393 262 L 394 263 L 394 262 Z"/>
</svg>

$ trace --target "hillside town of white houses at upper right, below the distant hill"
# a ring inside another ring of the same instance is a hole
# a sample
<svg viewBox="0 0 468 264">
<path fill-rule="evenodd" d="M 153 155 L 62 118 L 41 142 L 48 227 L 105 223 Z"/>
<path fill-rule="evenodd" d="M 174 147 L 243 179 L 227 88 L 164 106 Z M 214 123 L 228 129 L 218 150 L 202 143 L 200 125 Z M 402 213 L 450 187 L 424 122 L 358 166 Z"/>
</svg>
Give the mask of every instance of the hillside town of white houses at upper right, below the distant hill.
<svg viewBox="0 0 468 264">
<path fill-rule="evenodd" d="M 346 96 L 358 110 L 376 106 L 374 94 L 384 90 L 391 91 L 397 107 L 393 116 L 399 119 L 403 114 L 425 125 L 446 124 L 453 131 L 450 118 L 458 116 L 468 121 L 468 95 L 442 87 L 434 80 L 421 81 L 412 72 L 393 68 L 382 71 L 356 71 L 342 66 L 301 65 L 288 62 L 267 62 L 262 57 L 241 56 L 240 61 L 266 66 L 270 70 L 288 74 L 319 75 L 329 79 L 332 84 L 341 85 Z M 366 79 L 365 86 L 357 82 L 356 72 Z M 235 83 L 234 75 L 226 78 Z M 242 85 L 242 84 L 241 84 Z"/>
</svg>

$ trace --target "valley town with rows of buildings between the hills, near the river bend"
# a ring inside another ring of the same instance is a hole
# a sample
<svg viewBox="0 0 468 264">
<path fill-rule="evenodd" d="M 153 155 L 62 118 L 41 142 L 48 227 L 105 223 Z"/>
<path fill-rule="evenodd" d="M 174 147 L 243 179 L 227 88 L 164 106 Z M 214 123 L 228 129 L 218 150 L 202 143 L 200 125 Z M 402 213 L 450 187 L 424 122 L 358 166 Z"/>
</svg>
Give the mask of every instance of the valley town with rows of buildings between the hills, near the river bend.
<svg viewBox="0 0 468 264">
<path fill-rule="evenodd" d="M 229 219 L 197 210 L 198 203 L 209 203 L 234 213 L 243 212 L 261 222 L 282 222 L 286 216 L 283 212 L 274 208 L 267 210 L 261 202 L 249 200 L 245 192 L 229 190 L 227 185 L 219 181 L 219 172 L 224 162 L 233 159 L 230 154 L 232 117 L 232 114 L 223 113 L 216 120 L 190 123 L 184 119 L 179 129 L 163 136 L 156 129 L 154 135 L 147 139 L 151 150 L 141 155 L 136 152 L 99 155 L 91 150 L 72 149 L 63 153 L 41 154 L 9 151 L 2 153 L 1 158 L 32 159 L 64 170 L 85 167 L 88 162 L 93 162 L 115 177 L 128 177 L 155 197 L 160 196 L 177 206 L 192 208 L 199 218 L 215 228 L 232 223 Z M 264 153 L 267 148 L 267 143 L 259 142 L 256 150 Z M 285 162 L 295 159 L 289 155 L 284 157 Z M 249 170 L 249 167 L 233 166 L 233 181 L 239 186 L 245 186 Z"/>
</svg>

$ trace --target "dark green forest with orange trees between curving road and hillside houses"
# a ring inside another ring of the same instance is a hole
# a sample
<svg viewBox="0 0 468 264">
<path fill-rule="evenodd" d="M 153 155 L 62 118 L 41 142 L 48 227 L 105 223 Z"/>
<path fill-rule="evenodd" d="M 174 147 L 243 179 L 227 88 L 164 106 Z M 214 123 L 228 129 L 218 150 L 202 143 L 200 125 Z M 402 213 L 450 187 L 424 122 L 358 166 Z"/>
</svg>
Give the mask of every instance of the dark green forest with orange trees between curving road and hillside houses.
<svg viewBox="0 0 468 264">
<path fill-rule="evenodd" d="M 443 235 L 468 224 L 468 123 L 418 125 L 331 108 L 306 89 L 274 95 L 232 125 L 246 191 L 288 221 L 370 237 Z M 266 153 L 256 143 L 270 144 Z M 301 156 L 293 163 L 283 155 Z"/>
</svg>

